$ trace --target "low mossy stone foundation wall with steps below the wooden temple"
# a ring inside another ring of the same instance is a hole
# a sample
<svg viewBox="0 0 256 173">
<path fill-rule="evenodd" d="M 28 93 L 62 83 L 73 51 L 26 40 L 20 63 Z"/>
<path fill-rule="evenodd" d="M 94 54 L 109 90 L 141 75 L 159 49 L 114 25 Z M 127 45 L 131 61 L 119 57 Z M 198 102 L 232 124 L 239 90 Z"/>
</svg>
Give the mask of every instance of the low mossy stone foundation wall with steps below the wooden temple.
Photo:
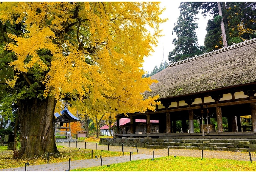
<svg viewBox="0 0 256 173">
<path fill-rule="evenodd" d="M 219 151 L 256 151 L 255 139 L 149 139 L 101 138 L 101 145 L 134 146 L 149 149 L 200 149 Z"/>
</svg>

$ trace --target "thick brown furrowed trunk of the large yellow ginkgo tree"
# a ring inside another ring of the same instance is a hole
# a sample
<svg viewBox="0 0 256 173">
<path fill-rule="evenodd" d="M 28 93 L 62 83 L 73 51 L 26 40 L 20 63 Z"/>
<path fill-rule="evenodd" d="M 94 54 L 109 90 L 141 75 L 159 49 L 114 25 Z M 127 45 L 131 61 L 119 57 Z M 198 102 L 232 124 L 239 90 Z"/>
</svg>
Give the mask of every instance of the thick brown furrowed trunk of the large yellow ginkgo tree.
<svg viewBox="0 0 256 173">
<path fill-rule="evenodd" d="M 54 108 L 56 101 L 52 97 L 18 100 L 20 120 L 19 157 L 31 158 L 46 152 L 58 153 L 53 131 Z"/>
</svg>

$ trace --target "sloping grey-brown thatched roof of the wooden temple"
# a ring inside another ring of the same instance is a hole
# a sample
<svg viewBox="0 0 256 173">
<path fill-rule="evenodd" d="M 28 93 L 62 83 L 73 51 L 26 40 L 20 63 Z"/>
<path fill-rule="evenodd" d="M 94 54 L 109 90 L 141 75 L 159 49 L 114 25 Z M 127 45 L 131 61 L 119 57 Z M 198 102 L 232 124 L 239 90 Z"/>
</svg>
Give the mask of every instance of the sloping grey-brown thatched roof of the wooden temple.
<svg viewBox="0 0 256 173">
<path fill-rule="evenodd" d="M 256 82 L 256 39 L 169 64 L 153 75 L 151 92 L 160 99 Z"/>
</svg>

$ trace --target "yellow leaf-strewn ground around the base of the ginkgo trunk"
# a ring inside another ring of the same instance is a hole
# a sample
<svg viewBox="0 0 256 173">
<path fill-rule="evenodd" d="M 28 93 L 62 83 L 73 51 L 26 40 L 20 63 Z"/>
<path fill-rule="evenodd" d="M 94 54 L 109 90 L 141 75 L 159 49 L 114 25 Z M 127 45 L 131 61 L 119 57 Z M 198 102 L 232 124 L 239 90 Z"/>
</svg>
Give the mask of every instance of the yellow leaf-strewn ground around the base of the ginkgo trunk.
<svg viewBox="0 0 256 173">
<path fill-rule="evenodd" d="M 83 160 L 92 158 L 92 149 L 78 149 L 58 146 L 60 154 L 50 154 L 49 163 L 66 162 L 69 158 L 72 160 Z M 13 159 L 13 150 L 7 150 L 7 146 L 0 146 L 0 169 L 24 166 L 29 162 L 30 165 L 47 164 L 47 153 L 31 159 Z M 130 154 L 124 152 L 124 154 Z M 93 157 L 101 155 L 102 157 L 120 156 L 122 152 L 93 150 Z"/>
</svg>

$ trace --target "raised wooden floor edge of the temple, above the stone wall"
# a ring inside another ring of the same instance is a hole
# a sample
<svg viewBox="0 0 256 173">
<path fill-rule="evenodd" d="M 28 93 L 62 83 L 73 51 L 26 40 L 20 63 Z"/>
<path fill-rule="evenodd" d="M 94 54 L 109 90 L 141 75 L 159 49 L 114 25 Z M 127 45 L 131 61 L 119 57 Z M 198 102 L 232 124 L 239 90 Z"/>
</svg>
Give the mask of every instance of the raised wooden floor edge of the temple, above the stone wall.
<svg viewBox="0 0 256 173">
<path fill-rule="evenodd" d="M 256 132 L 211 132 L 204 133 L 175 133 L 175 134 L 115 134 L 119 138 L 144 138 L 154 139 L 256 139 Z"/>
</svg>

